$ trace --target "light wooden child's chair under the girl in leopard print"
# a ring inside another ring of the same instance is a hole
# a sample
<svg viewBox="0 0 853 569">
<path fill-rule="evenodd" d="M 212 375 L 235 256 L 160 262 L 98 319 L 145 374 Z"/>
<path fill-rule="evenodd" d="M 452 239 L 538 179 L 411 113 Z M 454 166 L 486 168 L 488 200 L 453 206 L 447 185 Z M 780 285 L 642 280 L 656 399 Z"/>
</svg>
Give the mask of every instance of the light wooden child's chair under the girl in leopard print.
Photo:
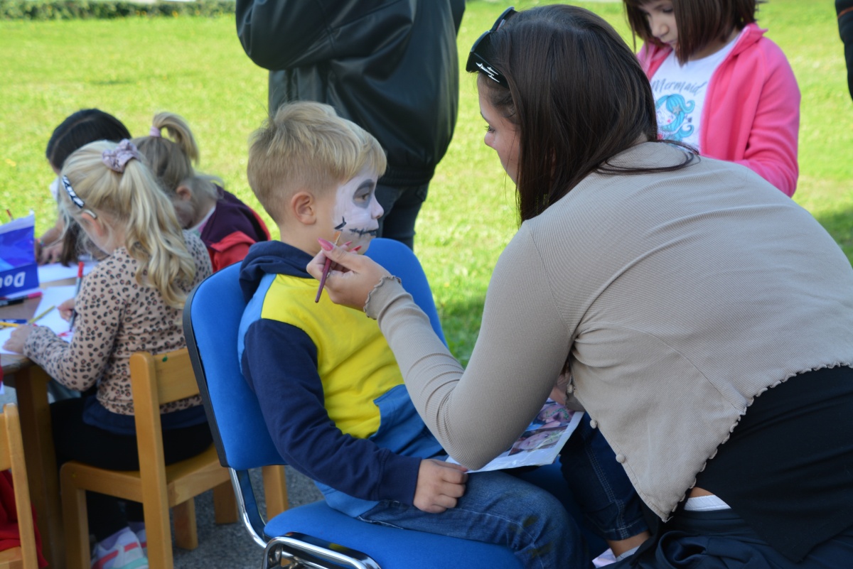
<svg viewBox="0 0 853 569">
<path fill-rule="evenodd" d="M 152 567 L 171 569 L 174 566 L 170 508 L 174 509 L 175 544 L 183 549 L 195 549 L 199 544 L 194 497 L 201 492 L 213 489 L 217 523 L 237 520 L 229 472 L 219 465 L 213 445 L 196 457 L 165 466 L 160 405 L 199 393 L 187 350 L 157 356 L 148 352 L 134 353 L 131 385 L 141 469 L 107 470 L 76 461 L 62 465 L 62 517 L 69 569 L 90 567 L 85 491 L 142 503 L 148 562 Z"/>
</svg>

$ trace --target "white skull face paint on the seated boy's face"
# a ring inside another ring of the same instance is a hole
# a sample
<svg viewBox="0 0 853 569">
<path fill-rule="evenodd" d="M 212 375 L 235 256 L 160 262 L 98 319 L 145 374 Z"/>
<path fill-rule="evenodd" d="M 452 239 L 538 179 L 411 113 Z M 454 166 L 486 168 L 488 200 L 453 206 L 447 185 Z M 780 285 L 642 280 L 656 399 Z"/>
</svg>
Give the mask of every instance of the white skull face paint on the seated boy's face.
<svg viewBox="0 0 853 569">
<path fill-rule="evenodd" d="M 361 245 L 359 253 L 364 253 L 370 241 L 376 237 L 379 218 L 385 213 L 376 201 L 378 178 L 375 172 L 363 170 L 350 181 L 341 184 L 336 193 L 332 227 L 335 232 L 340 232 L 338 243 L 351 241 L 351 249 Z"/>
</svg>

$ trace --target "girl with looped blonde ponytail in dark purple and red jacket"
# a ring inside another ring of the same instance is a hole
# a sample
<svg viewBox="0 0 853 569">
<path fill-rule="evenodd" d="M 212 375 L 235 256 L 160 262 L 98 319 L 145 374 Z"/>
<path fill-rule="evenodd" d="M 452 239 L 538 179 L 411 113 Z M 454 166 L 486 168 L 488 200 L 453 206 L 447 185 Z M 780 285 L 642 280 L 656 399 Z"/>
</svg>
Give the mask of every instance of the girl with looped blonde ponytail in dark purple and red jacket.
<svg viewBox="0 0 853 569">
<path fill-rule="evenodd" d="M 214 271 L 242 261 L 252 244 L 270 239 L 252 208 L 226 192 L 217 177 L 194 170 L 199 147 L 183 118 L 160 112 L 149 135 L 133 142 L 175 206 L 181 227 L 198 234 L 206 245 Z"/>
</svg>

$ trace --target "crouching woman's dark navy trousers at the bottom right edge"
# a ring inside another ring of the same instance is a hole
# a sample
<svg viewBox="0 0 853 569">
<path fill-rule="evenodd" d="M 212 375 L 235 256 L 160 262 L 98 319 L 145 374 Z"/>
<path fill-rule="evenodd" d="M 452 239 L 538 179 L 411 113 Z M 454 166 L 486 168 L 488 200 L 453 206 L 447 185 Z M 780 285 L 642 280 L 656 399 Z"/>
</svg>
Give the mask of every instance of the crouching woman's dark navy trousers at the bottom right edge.
<svg viewBox="0 0 853 569">
<path fill-rule="evenodd" d="M 851 563 L 853 527 L 795 563 L 758 537 L 733 510 L 722 509 L 676 513 L 656 540 L 608 569 L 842 569 Z"/>
</svg>

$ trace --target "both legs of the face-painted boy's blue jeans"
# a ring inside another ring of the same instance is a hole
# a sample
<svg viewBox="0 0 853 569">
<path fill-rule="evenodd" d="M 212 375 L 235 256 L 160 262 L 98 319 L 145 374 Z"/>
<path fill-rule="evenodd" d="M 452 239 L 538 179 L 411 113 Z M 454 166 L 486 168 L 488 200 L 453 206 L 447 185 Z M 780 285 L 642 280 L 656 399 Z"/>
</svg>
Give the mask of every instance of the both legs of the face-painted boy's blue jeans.
<svg viewBox="0 0 853 569">
<path fill-rule="evenodd" d="M 589 416 L 563 447 L 560 463 L 583 523 L 593 532 L 618 540 L 648 529 L 634 486 L 601 431 L 591 427 Z M 574 520 L 559 500 L 502 472 L 471 474 L 456 508 L 442 514 L 386 501 L 359 519 L 500 543 L 513 549 L 525 567 L 589 567 L 593 557 L 580 532 L 580 520 Z"/>
</svg>

